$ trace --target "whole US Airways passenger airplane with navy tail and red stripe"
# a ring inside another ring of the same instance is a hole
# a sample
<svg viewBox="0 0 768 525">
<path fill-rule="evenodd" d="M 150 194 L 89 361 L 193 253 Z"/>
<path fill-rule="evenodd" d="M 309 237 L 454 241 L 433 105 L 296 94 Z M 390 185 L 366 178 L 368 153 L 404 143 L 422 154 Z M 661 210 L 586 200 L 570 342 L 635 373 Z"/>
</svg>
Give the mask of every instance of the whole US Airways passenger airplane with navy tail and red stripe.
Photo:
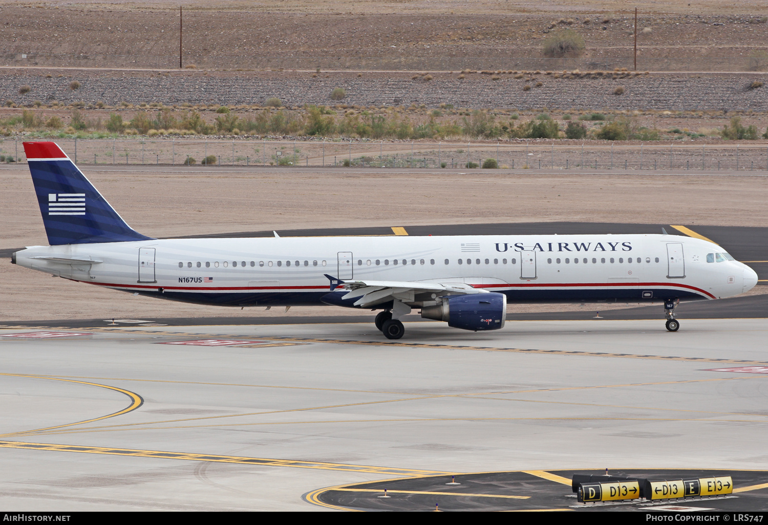
<svg viewBox="0 0 768 525">
<path fill-rule="evenodd" d="M 380 310 L 405 333 L 412 309 L 456 329 L 502 329 L 511 302 L 664 302 L 752 289 L 757 274 L 687 236 L 494 235 L 154 239 L 125 223 L 54 142 L 25 142 L 50 246 L 12 263 L 92 286 L 223 306 L 339 305 Z"/>
</svg>

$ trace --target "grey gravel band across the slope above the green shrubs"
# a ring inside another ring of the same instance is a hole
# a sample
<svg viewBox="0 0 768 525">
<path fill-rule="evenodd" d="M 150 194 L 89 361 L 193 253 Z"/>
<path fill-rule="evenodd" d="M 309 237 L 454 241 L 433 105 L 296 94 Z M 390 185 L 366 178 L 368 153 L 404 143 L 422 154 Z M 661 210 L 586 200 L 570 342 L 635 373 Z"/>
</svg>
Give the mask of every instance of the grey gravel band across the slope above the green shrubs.
<svg viewBox="0 0 768 525">
<path fill-rule="evenodd" d="M 70 88 L 77 80 L 81 87 Z M 634 78 L 552 78 L 545 74 L 532 80 L 504 74 L 492 80 L 486 74 L 435 74 L 432 81 L 405 74 L 319 74 L 274 72 L 271 74 L 177 73 L 161 76 L 123 74 L 103 76 L 71 73 L 46 78 L 45 74 L 13 72 L 0 78 L 4 100 L 15 104 L 84 101 L 115 105 L 161 102 L 163 104 L 263 104 L 280 97 L 286 106 L 336 104 L 330 100 L 335 87 L 343 87 L 345 104 L 392 106 L 453 104 L 455 107 L 520 110 L 548 107 L 575 110 L 645 111 L 756 111 L 768 112 L 768 87 L 750 88 L 760 80 L 754 74 L 646 75 Z M 537 82 L 543 85 L 536 87 Z M 19 94 L 19 87 L 31 87 Z M 529 85 L 529 91 L 523 88 Z M 616 87 L 624 94 L 616 95 Z"/>
</svg>

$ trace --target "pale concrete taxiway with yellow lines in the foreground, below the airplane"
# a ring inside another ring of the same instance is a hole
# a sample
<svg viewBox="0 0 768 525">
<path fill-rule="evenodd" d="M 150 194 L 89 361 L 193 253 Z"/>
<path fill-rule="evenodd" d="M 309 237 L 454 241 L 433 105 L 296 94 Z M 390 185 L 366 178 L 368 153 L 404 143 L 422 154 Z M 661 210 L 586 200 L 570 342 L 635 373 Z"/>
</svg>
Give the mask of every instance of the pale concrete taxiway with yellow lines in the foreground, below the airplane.
<svg viewBox="0 0 768 525">
<path fill-rule="evenodd" d="M 147 324 L 0 329 L 2 507 L 581 511 L 608 468 L 768 509 L 766 319 Z"/>
</svg>

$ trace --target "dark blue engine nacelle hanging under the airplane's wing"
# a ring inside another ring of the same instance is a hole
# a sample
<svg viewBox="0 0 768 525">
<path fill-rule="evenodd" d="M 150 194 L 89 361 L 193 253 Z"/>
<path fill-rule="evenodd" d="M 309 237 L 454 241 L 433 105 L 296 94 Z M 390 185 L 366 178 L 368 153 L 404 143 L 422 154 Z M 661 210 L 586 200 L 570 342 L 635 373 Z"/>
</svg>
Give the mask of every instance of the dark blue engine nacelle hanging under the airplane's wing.
<svg viewBox="0 0 768 525">
<path fill-rule="evenodd" d="M 462 330 L 498 330 L 507 317 L 507 296 L 492 292 L 443 297 L 440 304 L 423 307 L 422 317 Z"/>
</svg>

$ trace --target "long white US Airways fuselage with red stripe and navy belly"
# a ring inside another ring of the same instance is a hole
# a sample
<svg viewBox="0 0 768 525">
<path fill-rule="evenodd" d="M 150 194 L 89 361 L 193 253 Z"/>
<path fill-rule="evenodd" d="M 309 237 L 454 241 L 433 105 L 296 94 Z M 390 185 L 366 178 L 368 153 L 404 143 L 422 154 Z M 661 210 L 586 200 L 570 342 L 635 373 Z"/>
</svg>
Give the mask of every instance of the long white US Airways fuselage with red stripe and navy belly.
<svg viewBox="0 0 768 525">
<path fill-rule="evenodd" d="M 509 302 L 720 299 L 756 285 L 743 263 L 715 262 L 712 254 L 720 253 L 702 239 L 650 234 L 270 237 L 31 246 L 15 262 L 98 286 L 220 305 L 321 304 L 329 293 L 325 274 L 464 283 L 502 292 Z"/>
</svg>

